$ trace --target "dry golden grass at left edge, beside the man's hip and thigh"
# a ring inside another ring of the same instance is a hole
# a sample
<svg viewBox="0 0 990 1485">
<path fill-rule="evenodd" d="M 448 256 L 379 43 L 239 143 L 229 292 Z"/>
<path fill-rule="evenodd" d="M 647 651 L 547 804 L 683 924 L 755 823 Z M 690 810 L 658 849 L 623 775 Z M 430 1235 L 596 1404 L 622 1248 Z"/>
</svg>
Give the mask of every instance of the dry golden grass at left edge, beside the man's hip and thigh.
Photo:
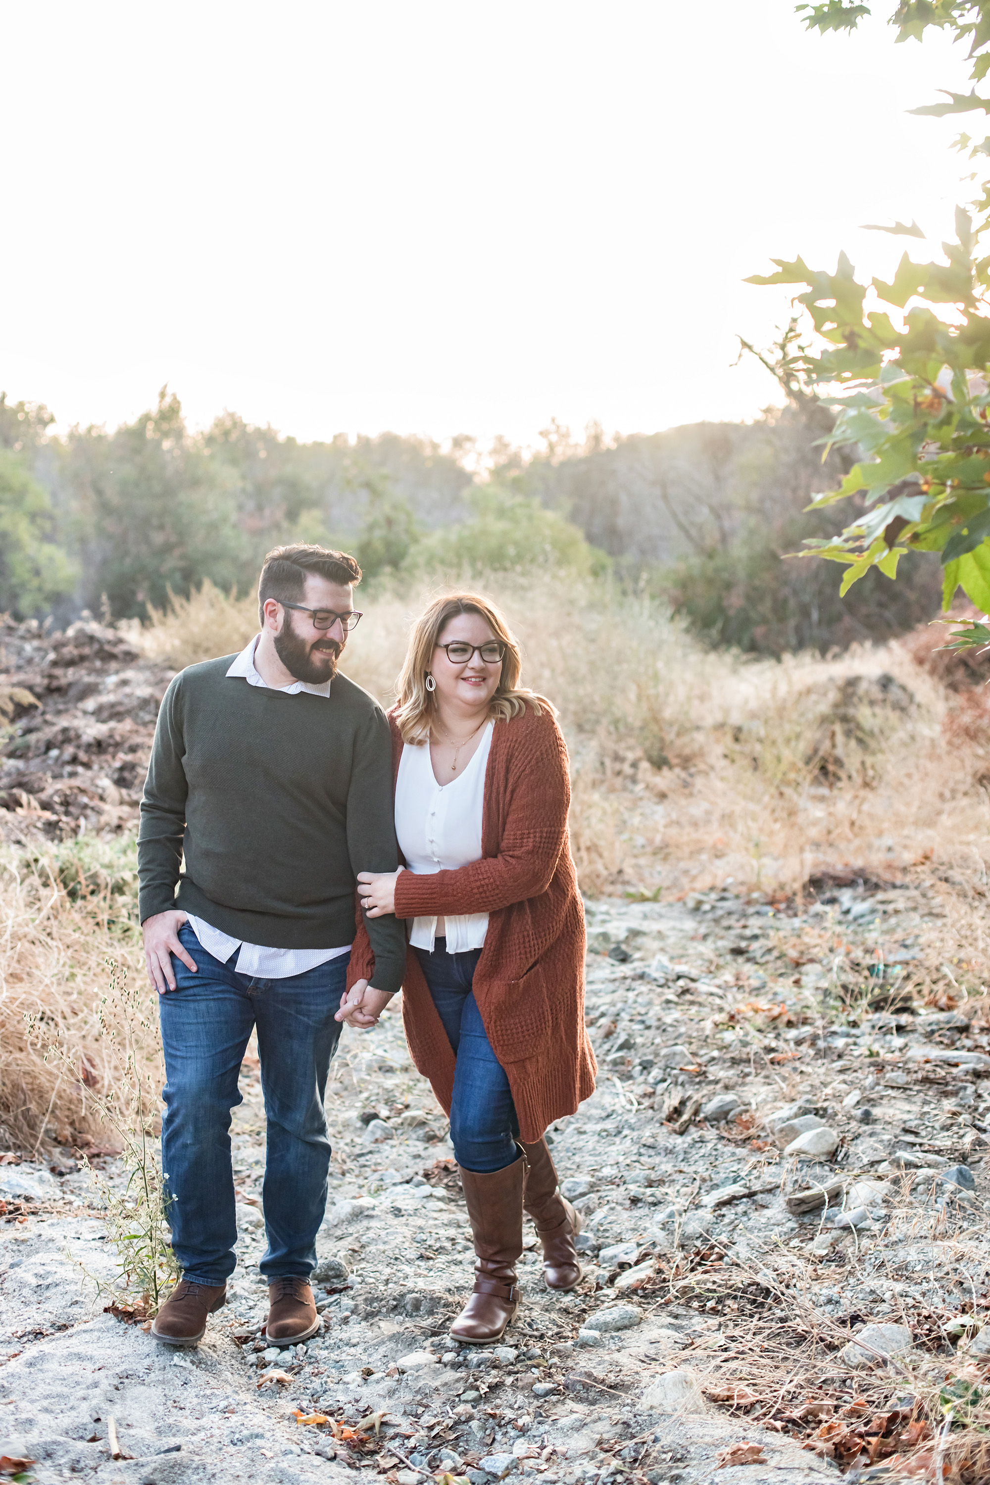
<svg viewBox="0 0 990 1485">
<path fill-rule="evenodd" d="M 134 845 L 70 842 L 46 855 L 0 855 L 0 1146 L 105 1140 L 91 1090 L 119 1071 L 99 1026 L 110 959 L 144 976 L 131 916 Z M 102 860 L 101 860 L 102 858 Z M 153 995 L 151 995 L 153 998 Z M 156 1011 L 157 1014 L 157 1011 Z M 25 1019 L 34 1025 L 27 1037 Z M 55 1047 L 52 1054 L 49 1050 Z M 159 1080 L 154 1037 L 138 1048 Z"/>
</svg>

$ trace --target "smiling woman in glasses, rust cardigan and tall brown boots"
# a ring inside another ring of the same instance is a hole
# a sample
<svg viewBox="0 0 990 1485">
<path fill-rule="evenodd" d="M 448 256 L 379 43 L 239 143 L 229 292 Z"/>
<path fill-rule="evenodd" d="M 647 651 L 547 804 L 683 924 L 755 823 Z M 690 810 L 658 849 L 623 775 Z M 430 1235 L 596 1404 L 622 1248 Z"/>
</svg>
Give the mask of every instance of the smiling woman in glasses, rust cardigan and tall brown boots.
<svg viewBox="0 0 990 1485">
<path fill-rule="evenodd" d="M 496 1341 L 519 1305 L 522 1212 L 552 1289 L 580 1280 L 580 1219 L 543 1138 L 595 1086 L 585 1032 L 585 915 L 567 839 L 567 748 L 519 686 L 519 649 L 484 598 L 435 600 L 413 627 L 389 714 L 405 869 L 359 873 L 370 918 L 410 921 L 402 1014 L 413 1059 L 450 1114 L 475 1238 L 475 1287 L 451 1326 Z M 358 919 L 338 1017 L 374 1025 Z"/>
</svg>

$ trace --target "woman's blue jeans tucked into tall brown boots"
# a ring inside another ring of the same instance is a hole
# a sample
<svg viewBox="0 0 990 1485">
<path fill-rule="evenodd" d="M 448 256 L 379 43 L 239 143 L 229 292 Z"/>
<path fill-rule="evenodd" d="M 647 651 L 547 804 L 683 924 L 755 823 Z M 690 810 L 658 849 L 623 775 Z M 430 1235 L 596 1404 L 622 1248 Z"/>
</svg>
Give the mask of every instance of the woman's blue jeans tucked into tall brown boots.
<svg viewBox="0 0 990 1485">
<path fill-rule="evenodd" d="M 450 1105 L 454 1158 L 465 1170 L 503 1170 L 519 1158 L 519 1123 L 509 1080 L 491 1050 L 471 989 L 481 949 L 447 953 L 447 940 L 436 939 L 432 953 L 414 952 L 457 1059 Z"/>
</svg>

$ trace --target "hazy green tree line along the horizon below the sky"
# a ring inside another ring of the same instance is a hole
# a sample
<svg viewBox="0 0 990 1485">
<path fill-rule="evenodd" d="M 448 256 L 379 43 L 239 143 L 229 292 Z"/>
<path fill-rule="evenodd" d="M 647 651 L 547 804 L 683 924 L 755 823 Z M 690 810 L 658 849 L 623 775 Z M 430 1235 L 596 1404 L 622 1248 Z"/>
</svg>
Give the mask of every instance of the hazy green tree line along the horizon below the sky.
<svg viewBox="0 0 990 1485">
<path fill-rule="evenodd" d="M 825 564 L 784 560 L 837 529 L 804 506 L 848 468 L 813 447 L 831 414 L 788 388 L 788 353 L 785 337 L 767 362 L 787 405 L 753 423 L 582 441 L 552 425 L 533 454 L 488 450 L 482 475 L 469 438 L 304 444 L 235 413 L 193 432 L 168 389 L 134 423 L 53 437 L 45 405 L 0 394 L 0 612 L 145 618 L 203 579 L 248 593 L 270 546 L 315 541 L 353 551 L 370 585 L 543 564 L 607 576 L 744 652 L 888 639 L 937 610 L 934 566 L 840 597 Z"/>
</svg>

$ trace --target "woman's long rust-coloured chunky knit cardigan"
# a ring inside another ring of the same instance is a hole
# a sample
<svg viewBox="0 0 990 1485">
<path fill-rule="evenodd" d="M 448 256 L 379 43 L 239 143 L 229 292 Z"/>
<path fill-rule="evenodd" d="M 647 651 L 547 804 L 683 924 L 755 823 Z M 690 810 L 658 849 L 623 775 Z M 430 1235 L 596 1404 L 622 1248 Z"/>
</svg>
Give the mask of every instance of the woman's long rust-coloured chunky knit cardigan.
<svg viewBox="0 0 990 1485">
<path fill-rule="evenodd" d="M 402 738 L 392 726 L 392 787 Z M 424 744 L 426 745 L 426 744 Z M 567 745 L 549 707 L 496 722 L 485 771 L 481 860 L 456 872 L 399 872 L 396 918 L 488 913 L 473 992 L 491 1048 L 509 1077 L 519 1138 L 536 1142 L 595 1087 L 585 1031 L 585 912 L 567 836 Z M 374 974 L 358 913 L 347 986 Z M 450 1114 L 454 1053 L 410 949 L 402 1019 L 416 1066 Z"/>
</svg>

